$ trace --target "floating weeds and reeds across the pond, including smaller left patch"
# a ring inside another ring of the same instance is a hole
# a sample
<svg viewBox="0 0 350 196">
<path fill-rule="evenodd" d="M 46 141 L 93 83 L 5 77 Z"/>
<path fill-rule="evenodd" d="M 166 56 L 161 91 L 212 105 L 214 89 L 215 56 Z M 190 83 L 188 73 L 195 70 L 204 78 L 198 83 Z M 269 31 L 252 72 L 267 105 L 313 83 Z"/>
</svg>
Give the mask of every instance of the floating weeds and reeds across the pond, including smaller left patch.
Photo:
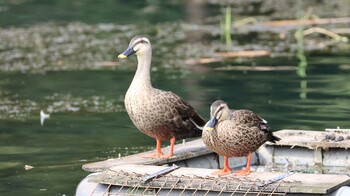
<svg viewBox="0 0 350 196">
<path fill-rule="evenodd" d="M 213 65 L 217 70 L 227 71 L 296 70 L 302 79 L 300 97 L 306 98 L 307 56 L 346 56 L 350 50 L 350 18 L 331 18 L 328 15 L 325 16 L 329 18 L 321 18 L 322 13 L 313 13 L 317 9 L 308 9 L 302 5 L 292 7 L 291 10 L 296 8 L 300 13 L 306 10 L 306 14 L 292 18 L 278 10 L 277 5 L 272 2 L 274 1 L 235 1 L 221 5 L 220 2 L 213 1 L 207 6 L 216 6 L 217 16 L 203 18 L 202 24 L 167 22 L 136 26 L 47 22 L 0 28 L 0 71 L 45 73 L 115 67 L 119 69 L 123 63 L 117 61 L 116 54 L 125 48 L 126 40 L 143 33 L 156 40 L 152 42 L 153 47 L 157 48 L 154 50 L 153 62 L 156 66 L 153 71 L 168 67 L 197 69 L 188 65 L 201 64 Z M 301 4 L 301 1 L 298 2 Z M 148 8 L 155 9 L 157 6 L 158 4 L 149 5 Z M 280 9 L 286 9 L 285 5 L 279 6 Z M 309 6 L 322 7 L 319 4 Z M 152 10 L 149 9 L 144 14 L 149 14 Z M 316 17 L 316 14 L 321 16 Z M 257 57 L 260 60 L 265 59 L 262 61 L 265 63 L 254 60 Z M 296 59 L 299 63 L 297 67 L 293 64 L 266 63 L 274 61 L 273 58 Z M 42 105 L 29 99 L 18 101 L 18 95 L 4 93 L 4 89 L 0 91 L 2 119 L 21 118 L 25 114 L 38 112 L 43 107 L 49 112 L 111 112 L 121 109 L 121 103 L 103 97 L 81 98 L 70 94 L 56 94 L 46 97 L 44 101 L 47 104 Z"/>
</svg>

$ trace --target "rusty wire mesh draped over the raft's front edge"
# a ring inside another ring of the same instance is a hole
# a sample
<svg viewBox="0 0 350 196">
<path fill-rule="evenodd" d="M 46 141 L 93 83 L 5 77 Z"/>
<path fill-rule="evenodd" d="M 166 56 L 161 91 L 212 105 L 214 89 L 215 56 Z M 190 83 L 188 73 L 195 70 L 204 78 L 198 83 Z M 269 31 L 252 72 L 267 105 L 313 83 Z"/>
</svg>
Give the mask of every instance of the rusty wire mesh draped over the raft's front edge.
<svg viewBox="0 0 350 196">
<path fill-rule="evenodd" d="M 97 195 L 286 195 L 298 182 L 278 181 L 264 184 L 237 176 L 174 176 L 171 174 L 143 182 L 144 175 L 107 170 L 90 179 L 100 183 Z M 102 188 L 101 188 L 102 187 Z"/>
</svg>

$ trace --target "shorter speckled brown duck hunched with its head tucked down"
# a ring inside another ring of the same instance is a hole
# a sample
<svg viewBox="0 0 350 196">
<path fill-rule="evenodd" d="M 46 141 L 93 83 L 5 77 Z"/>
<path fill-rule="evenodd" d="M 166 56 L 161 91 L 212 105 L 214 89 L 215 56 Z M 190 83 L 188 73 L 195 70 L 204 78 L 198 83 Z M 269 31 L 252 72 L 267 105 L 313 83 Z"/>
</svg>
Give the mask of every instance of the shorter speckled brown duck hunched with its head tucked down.
<svg viewBox="0 0 350 196">
<path fill-rule="evenodd" d="M 267 141 L 276 143 L 280 140 L 266 120 L 250 110 L 232 110 L 222 100 L 216 100 L 210 106 L 210 120 L 203 128 L 202 139 L 209 149 L 224 156 L 224 168 L 212 173 L 219 176 L 231 174 L 229 157 L 244 156 L 247 157 L 247 165 L 235 174 L 249 175 L 252 152 Z"/>
</svg>

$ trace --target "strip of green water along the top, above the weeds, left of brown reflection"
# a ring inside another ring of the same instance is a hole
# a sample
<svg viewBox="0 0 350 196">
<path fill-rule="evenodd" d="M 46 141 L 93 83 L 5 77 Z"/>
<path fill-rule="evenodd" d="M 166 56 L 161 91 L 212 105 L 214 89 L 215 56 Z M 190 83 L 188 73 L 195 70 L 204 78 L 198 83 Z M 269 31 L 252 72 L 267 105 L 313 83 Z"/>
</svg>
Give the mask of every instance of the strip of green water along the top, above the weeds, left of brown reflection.
<svg viewBox="0 0 350 196">
<path fill-rule="evenodd" d="M 42 22 L 149 24 L 183 19 L 184 2 L 159 0 L 0 0 L 0 25 Z"/>
</svg>

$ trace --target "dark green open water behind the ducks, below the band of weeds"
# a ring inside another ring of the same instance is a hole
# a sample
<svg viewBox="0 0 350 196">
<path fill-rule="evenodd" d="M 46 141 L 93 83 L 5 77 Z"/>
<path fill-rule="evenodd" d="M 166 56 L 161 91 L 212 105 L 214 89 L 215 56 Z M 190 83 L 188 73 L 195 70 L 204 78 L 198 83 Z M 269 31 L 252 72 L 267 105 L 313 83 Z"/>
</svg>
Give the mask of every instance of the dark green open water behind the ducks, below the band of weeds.
<svg viewBox="0 0 350 196">
<path fill-rule="evenodd" d="M 210 67 L 206 73 L 153 72 L 153 83 L 181 95 L 206 119 L 210 103 L 220 98 L 232 108 L 253 109 L 274 130 L 349 126 L 350 70 L 339 69 L 337 64 L 310 67 L 307 89 L 300 89 L 301 79 L 293 71 L 215 71 Z M 94 112 L 77 104 L 79 111 L 54 112 L 44 126 L 39 123 L 39 110 L 55 103 L 45 97 L 55 93 L 69 94 L 68 103 L 76 97 L 103 96 L 119 108 L 132 69 L 0 76 L 6 78 L 0 89 L 6 89 L 11 99 L 36 103 L 21 120 L 1 120 L 1 194 L 72 195 L 87 175 L 82 164 L 149 150 L 155 143 L 133 127 L 123 109 L 103 112 L 104 106 L 96 106 Z M 307 92 L 307 99 L 299 97 L 302 91 Z M 26 164 L 35 168 L 26 171 Z"/>
</svg>

